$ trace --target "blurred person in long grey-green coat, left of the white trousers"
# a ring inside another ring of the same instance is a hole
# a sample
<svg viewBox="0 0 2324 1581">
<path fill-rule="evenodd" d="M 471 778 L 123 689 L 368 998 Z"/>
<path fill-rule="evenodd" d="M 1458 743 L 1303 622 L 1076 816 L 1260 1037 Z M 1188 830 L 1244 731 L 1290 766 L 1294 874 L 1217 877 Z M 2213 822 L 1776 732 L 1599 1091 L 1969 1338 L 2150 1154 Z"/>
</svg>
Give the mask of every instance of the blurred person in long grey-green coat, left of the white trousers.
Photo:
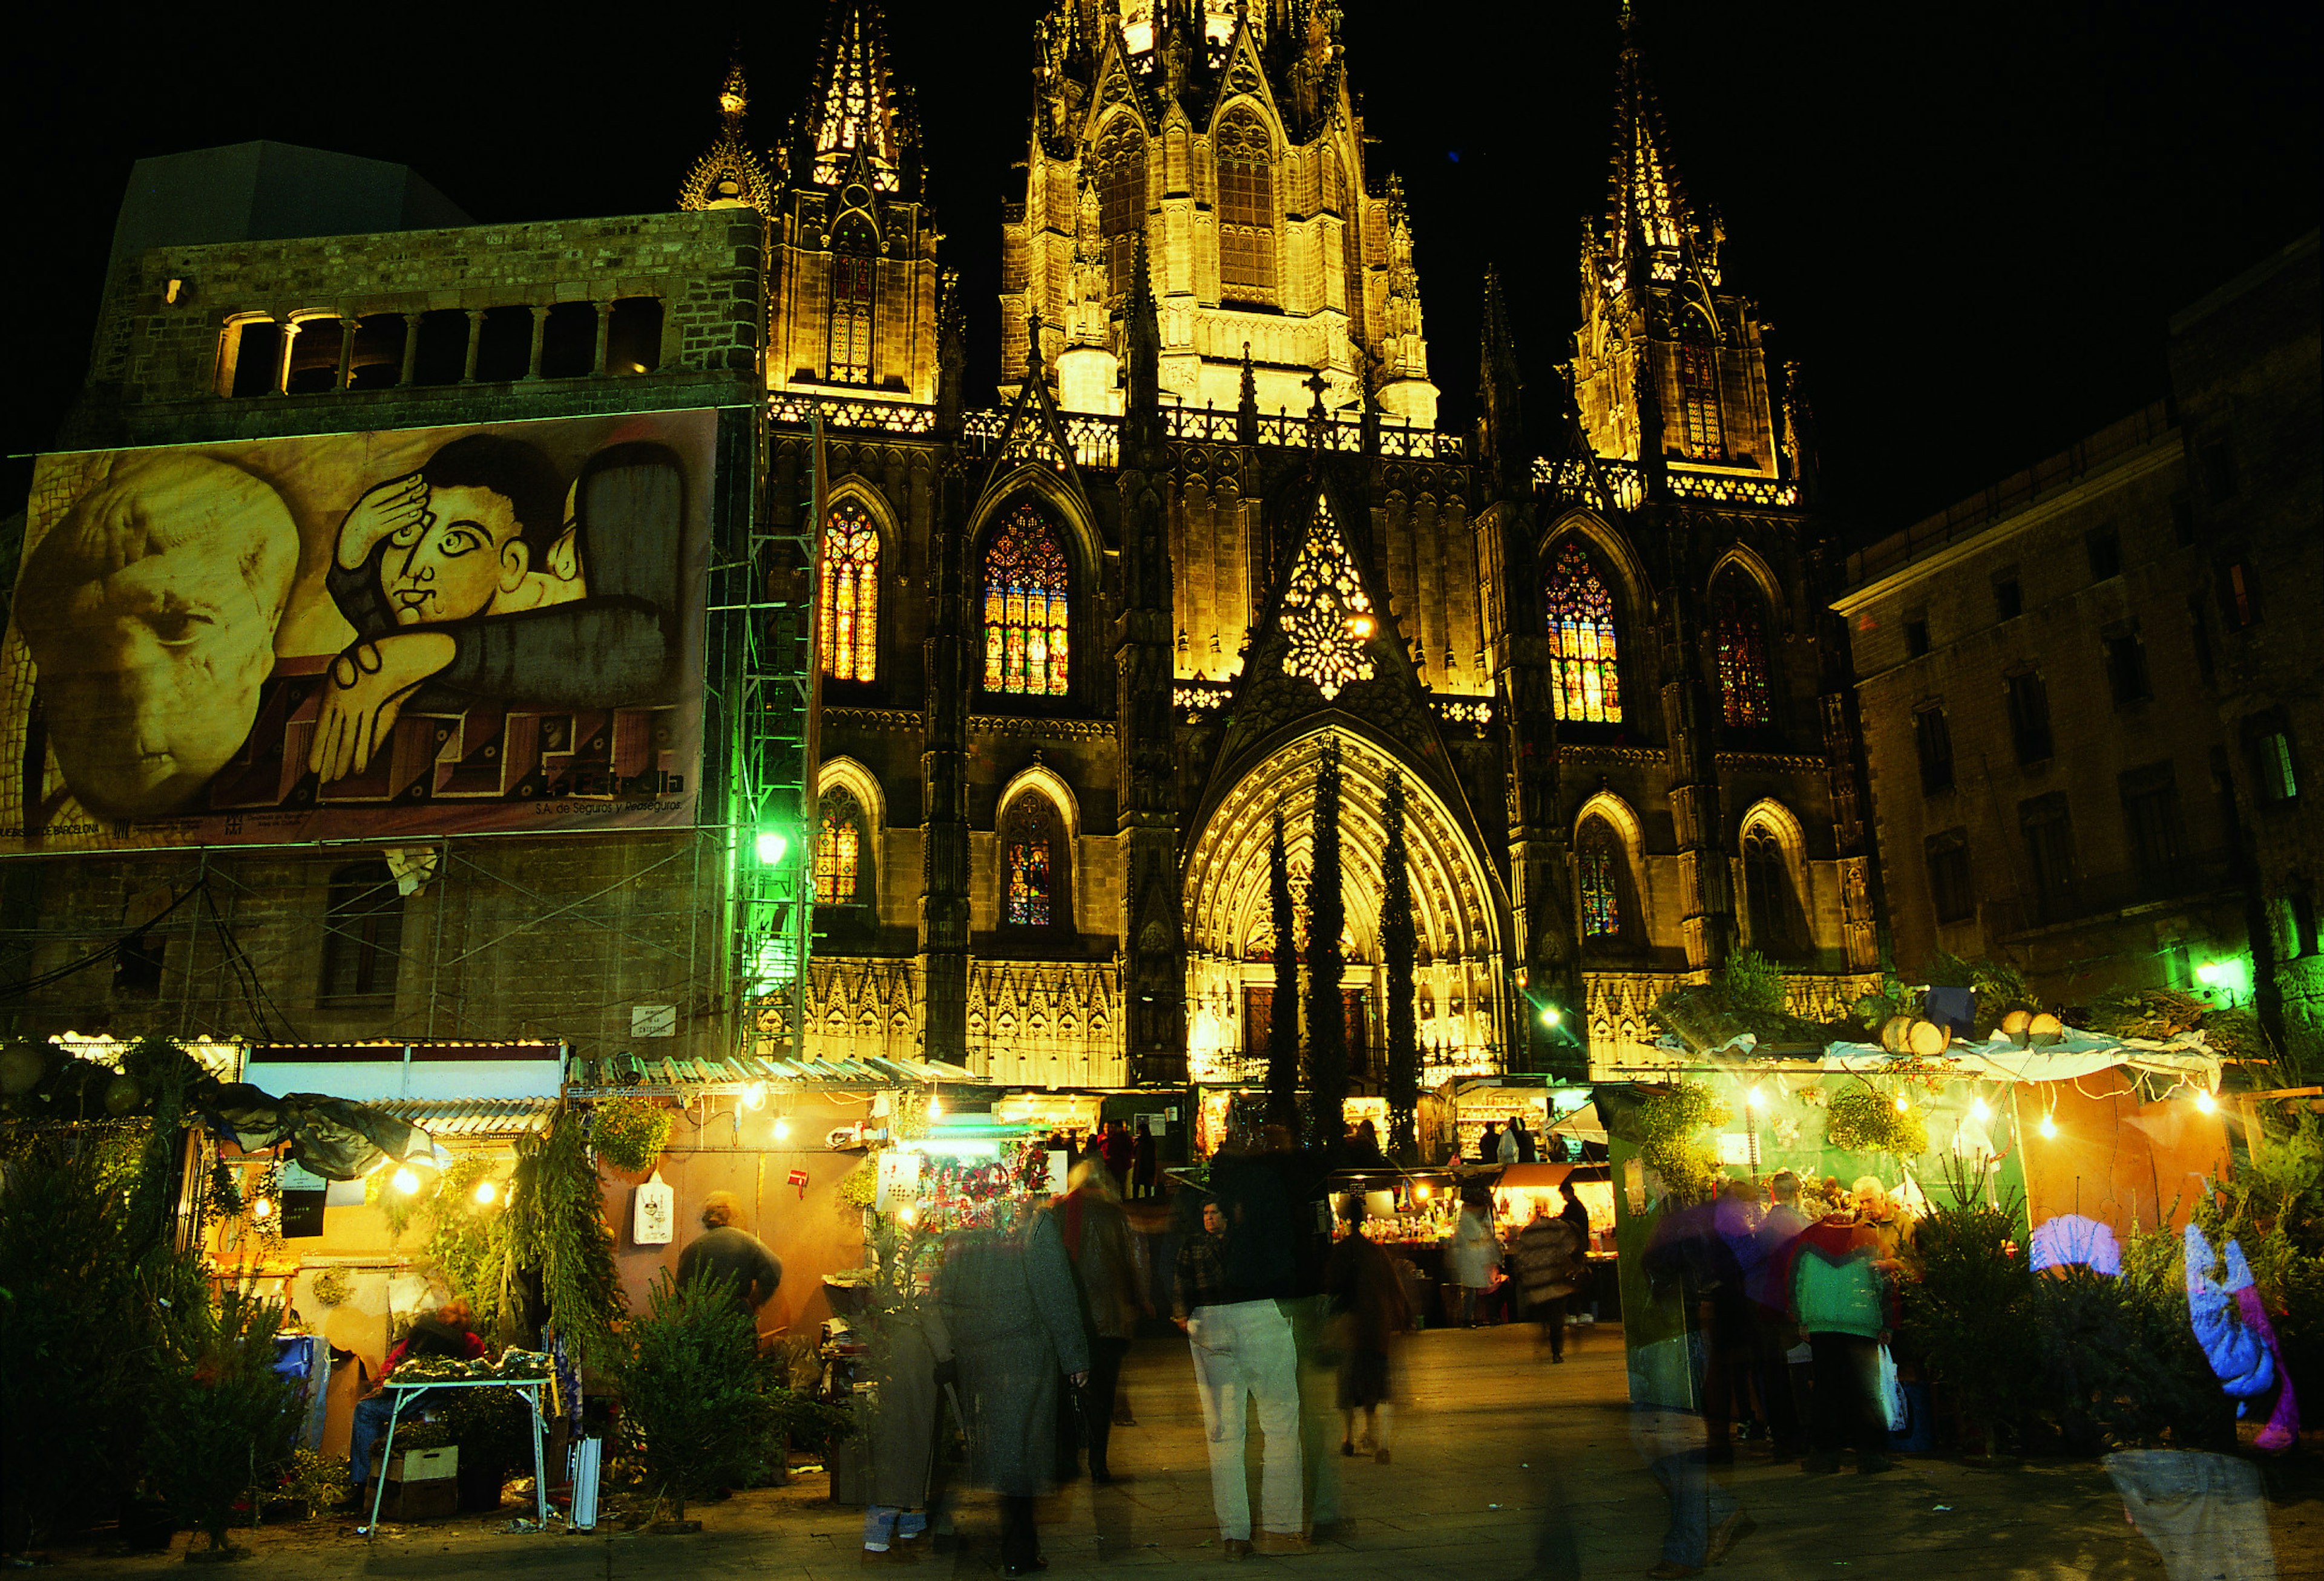
<svg viewBox="0 0 2324 1581">
<path fill-rule="evenodd" d="M 1002 1203 L 995 1228 L 953 1244 L 937 1282 L 960 1365 L 969 1477 L 1002 1497 L 1002 1567 L 1046 1569 L 1034 1497 L 1057 1465 L 1060 1381 L 1090 1381 L 1090 1342 L 1064 1240 L 1030 1198 Z"/>
</svg>

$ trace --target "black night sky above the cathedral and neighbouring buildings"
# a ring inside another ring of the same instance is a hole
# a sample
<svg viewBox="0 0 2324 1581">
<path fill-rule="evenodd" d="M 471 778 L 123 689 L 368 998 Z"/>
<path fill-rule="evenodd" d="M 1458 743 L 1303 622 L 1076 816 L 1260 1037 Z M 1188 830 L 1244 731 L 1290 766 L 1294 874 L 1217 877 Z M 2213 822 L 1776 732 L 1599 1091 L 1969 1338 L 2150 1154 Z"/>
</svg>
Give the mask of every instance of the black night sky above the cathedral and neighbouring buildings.
<svg viewBox="0 0 2324 1581">
<path fill-rule="evenodd" d="M 990 388 L 997 223 L 1025 153 L 1037 0 L 890 0 L 948 260 Z M 1348 53 L 1404 172 L 1446 392 L 1466 423 L 1485 262 L 1536 383 L 1576 320 L 1604 202 L 1613 0 L 1350 0 Z M 130 163 L 272 137 L 400 160 L 479 221 L 662 209 L 744 37 L 772 139 L 820 0 L 70 7 L 12 51 L 9 453 L 79 385 Z M 2317 223 L 2305 2 L 1708 5 L 1641 0 L 1680 174 L 1727 216 L 1729 286 L 1808 367 L 1850 536 L 1927 515 L 2164 392 L 2164 320 Z M 135 21 L 144 16 L 149 21 Z M 23 467 L 9 467 L 21 490 Z"/>
</svg>

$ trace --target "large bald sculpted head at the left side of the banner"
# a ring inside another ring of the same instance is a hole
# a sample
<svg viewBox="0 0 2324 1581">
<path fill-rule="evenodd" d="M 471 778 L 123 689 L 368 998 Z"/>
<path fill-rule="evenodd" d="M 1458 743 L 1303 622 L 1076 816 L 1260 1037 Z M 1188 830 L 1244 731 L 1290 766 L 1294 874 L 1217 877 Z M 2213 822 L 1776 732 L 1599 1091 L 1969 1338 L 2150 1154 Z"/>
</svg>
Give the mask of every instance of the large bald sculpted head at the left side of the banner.
<svg viewBox="0 0 2324 1581">
<path fill-rule="evenodd" d="M 116 467 L 26 562 L 16 625 L 74 799 L 186 808 L 251 734 L 297 527 L 272 485 L 205 455 Z"/>
</svg>

